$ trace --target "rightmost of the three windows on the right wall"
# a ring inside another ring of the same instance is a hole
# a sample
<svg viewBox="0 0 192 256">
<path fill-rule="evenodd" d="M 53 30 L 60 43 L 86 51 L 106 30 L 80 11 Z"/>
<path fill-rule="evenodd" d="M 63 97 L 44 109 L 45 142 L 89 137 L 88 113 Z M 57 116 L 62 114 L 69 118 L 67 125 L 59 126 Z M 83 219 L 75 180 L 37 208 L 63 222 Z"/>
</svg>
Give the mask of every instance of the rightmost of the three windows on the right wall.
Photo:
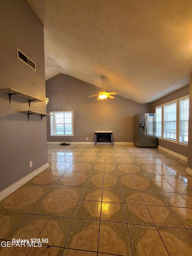
<svg viewBox="0 0 192 256">
<path fill-rule="evenodd" d="M 189 95 L 179 98 L 179 142 L 188 144 Z M 179 143 L 179 144 L 180 144 Z"/>
</svg>

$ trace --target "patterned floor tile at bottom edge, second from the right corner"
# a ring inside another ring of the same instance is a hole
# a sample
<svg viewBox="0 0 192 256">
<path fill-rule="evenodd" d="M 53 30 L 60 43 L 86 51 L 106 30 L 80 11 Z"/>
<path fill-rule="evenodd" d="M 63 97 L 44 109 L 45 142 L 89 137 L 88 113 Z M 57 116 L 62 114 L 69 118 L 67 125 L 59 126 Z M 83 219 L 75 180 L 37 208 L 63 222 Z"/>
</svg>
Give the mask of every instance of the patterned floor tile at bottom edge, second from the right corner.
<svg viewBox="0 0 192 256">
<path fill-rule="evenodd" d="M 134 256 L 169 255 L 156 227 L 128 224 L 128 229 Z"/>
</svg>

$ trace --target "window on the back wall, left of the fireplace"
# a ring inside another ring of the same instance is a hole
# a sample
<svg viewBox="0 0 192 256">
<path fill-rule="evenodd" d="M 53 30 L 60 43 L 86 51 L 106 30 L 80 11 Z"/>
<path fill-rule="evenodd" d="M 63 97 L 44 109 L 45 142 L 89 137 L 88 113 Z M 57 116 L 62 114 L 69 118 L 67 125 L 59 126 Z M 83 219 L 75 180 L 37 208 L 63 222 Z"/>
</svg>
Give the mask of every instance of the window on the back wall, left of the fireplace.
<svg viewBox="0 0 192 256">
<path fill-rule="evenodd" d="M 73 111 L 50 112 L 50 135 L 73 136 Z"/>
</svg>

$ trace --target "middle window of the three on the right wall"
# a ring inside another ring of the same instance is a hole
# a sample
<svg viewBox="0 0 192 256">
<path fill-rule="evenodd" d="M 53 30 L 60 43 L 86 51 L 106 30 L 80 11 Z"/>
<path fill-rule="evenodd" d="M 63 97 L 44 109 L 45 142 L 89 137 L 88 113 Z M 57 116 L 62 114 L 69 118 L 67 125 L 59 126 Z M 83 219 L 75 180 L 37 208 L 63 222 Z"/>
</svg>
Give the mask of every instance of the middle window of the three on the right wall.
<svg viewBox="0 0 192 256">
<path fill-rule="evenodd" d="M 165 140 L 177 143 L 177 102 L 170 101 L 164 104 L 164 136 Z"/>
</svg>

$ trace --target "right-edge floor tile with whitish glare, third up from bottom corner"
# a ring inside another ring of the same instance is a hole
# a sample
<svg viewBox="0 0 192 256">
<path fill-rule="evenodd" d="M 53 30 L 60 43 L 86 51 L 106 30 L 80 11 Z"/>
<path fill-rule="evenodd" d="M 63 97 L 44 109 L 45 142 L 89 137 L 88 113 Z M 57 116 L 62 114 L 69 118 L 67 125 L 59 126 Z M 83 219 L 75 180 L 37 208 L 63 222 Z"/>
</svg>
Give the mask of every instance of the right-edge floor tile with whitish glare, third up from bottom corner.
<svg viewBox="0 0 192 256">
<path fill-rule="evenodd" d="M 192 206 L 179 193 L 160 192 L 160 194 L 169 206 L 192 208 Z"/>
</svg>

